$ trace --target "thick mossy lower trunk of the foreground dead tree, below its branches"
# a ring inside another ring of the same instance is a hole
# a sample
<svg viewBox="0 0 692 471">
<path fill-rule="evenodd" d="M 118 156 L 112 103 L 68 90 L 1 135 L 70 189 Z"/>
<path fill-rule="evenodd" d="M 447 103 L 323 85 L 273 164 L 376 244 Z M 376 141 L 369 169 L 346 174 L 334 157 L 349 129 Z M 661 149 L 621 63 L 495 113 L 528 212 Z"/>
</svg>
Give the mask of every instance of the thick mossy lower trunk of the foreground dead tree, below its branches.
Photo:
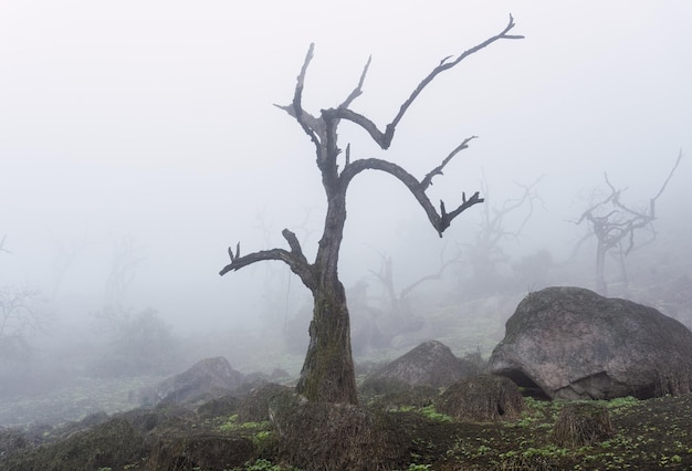
<svg viewBox="0 0 692 471">
<path fill-rule="evenodd" d="M 344 286 L 337 280 L 323 284 L 314 300 L 310 346 L 296 391 L 311 401 L 357 404 Z"/>
</svg>

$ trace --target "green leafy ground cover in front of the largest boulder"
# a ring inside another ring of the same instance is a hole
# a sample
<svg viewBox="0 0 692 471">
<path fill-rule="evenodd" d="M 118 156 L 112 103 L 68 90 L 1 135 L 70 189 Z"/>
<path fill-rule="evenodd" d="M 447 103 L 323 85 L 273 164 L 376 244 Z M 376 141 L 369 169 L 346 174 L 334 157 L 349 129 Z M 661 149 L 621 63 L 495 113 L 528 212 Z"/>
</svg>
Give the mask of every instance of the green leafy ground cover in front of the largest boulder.
<svg viewBox="0 0 692 471">
<path fill-rule="evenodd" d="M 567 401 L 526 400 L 516 421 L 450 423 L 421 437 L 428 448 L 412 469 L 434 470 L 654 470 L 692 468 L 692 396 L 602 402 L 615 433 L 589 446 L 552 439 Z M 415 468 L 418 465 L 419 468 Z"/>
</svg>

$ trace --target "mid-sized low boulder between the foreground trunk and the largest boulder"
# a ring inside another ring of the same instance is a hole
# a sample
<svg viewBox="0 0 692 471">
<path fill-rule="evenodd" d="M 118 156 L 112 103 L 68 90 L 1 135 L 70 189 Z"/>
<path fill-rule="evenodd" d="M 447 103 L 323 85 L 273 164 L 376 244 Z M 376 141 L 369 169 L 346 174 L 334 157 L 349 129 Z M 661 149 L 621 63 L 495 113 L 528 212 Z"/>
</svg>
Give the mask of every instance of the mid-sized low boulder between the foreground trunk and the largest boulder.
<svg viewBox="0 0 692 471">
<path fill-rule="evenodd" d="M 438 341 L 428 341 L 368 376 L 366 395 L 396 393 L 415 386 L 442 388 L 469 376 L 474 365 L 463 360 Z"/>
</svg>

